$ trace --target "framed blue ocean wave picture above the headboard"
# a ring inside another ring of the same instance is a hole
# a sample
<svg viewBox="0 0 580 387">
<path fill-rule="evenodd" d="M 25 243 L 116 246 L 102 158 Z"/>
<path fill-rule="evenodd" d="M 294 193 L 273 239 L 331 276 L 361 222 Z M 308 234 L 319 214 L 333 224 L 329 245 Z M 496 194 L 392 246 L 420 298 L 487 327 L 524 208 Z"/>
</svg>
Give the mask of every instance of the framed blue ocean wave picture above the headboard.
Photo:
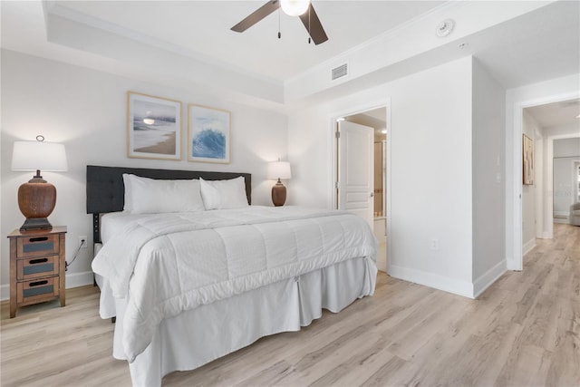
<svg viewBox="0 0 580 387">
<path fill-rule="evenodd" d="M 231 113 L 189 104 L 188 160 L 229 163 Z"/>
</svg>

